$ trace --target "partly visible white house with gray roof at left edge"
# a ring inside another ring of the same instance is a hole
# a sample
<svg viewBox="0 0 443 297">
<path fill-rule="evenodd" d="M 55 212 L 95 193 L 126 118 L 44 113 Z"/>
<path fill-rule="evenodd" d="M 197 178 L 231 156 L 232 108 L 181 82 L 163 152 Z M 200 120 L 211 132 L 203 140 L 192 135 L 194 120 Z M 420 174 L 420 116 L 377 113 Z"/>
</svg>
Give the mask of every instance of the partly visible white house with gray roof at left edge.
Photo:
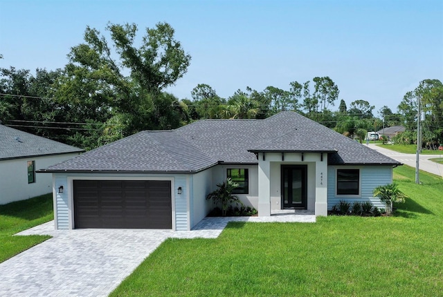
<svg viewBox="0 0 443 297">
<path fill-rule="evenodd" d="M 0 125 L 0 204 L 51 193 L 51 176 L 37 176 L 35 171 L 82 152 L 74 146 Z"/>
</svg>

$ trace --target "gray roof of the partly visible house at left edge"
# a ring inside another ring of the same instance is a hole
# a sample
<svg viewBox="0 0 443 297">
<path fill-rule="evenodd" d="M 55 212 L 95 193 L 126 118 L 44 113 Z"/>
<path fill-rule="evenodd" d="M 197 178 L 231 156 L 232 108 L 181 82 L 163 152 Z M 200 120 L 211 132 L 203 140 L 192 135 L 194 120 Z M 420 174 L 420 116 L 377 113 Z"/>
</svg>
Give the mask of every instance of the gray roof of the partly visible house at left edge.
<svg viewBox="0 0 443 297">
<path fill-rule="evenodd" d="M 80 153 L 82 151 L 84 150 L 75 146 L 0 125 L 0 160 Z"/>
</svg>

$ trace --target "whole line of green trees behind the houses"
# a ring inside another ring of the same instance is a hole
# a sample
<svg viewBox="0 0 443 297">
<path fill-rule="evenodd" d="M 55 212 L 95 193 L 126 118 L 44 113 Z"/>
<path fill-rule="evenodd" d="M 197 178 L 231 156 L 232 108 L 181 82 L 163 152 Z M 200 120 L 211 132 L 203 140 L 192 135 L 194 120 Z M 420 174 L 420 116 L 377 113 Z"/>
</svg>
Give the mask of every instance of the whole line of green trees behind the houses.
<svg viewBox="0 0 443 297">
<path fill-rule="evenodd" d="M 379 117 L 365 100 L 355 100 L 348 108 L 329 77 L 290 82 L 287 90 L 246 87 L 228 98 L 208 84 L 198 84 L 190 99 L 179 99 L 165 89 L 186 74 L 191 56 L 174 38 L 172 26 L 146 28 L 140 46 L 134 23 L 108 23 L 106 30 L 108 37 L 87 27 L 84 42 L 71 48 L 62 69 L 37 69 L 33 75 L 30 70 L 0 68 L 0 121 L 89 150 L 138 131 L 178 128 L 198 119 L 263 119 L 296 111 L 361 141 L 367 131 L 380 130 L 383 124 L 402 124 L 413 135 L 419 98 L 428 119 L 426 141 L 443 139 L 443 90 L 436 79 L 426 79 L 406 93 L 398 113 L 383 106 Z"/>
</svg>

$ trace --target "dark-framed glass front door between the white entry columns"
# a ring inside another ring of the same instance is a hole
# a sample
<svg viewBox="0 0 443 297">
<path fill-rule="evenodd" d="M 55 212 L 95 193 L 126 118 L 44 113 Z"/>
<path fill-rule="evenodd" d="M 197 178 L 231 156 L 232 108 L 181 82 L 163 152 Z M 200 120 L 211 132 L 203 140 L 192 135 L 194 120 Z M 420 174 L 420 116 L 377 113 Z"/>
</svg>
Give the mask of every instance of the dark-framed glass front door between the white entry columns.
<svg viewBox="0 0 443 297">
<path fill-rule="evenodd" d="M 283 209 L 306 209 L 306 173 L 306 165 L 282 165 Z"/>
</svg>

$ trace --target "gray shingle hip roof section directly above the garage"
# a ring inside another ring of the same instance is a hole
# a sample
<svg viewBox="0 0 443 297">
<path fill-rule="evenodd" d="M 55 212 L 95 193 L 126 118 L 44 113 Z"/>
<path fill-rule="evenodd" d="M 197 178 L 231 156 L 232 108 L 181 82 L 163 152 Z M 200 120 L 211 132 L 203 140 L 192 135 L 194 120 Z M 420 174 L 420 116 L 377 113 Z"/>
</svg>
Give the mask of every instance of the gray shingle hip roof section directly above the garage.
<svg viewBox="0 0 443 297">
<path fill-rule="evenodd" d="M 195 172 L 215 164 L 175 131 L 143 131 L 44 171 Z"/>
</svg>

